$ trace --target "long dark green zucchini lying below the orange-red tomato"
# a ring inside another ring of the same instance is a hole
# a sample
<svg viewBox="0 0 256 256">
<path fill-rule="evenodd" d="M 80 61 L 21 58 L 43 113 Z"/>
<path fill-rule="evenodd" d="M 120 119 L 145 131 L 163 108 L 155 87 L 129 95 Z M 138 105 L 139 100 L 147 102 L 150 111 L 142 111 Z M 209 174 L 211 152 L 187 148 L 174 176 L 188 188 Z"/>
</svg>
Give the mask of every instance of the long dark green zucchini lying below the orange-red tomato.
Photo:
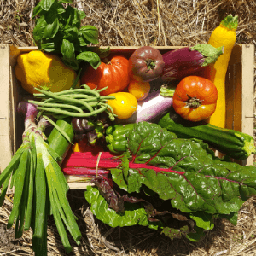
<svg viewBox="0 0 256 256">
<path fill-rule="evenodd" d="M 160 119 L 158 125 L 174 132 L 180 138 L 197 138 L 235 160 L 246 160 L 255 153 L 252 136 L 240 131 L 219 128 L 204 122 L 190 122 L 179 116 L 173 108 Z"/>
</svg>

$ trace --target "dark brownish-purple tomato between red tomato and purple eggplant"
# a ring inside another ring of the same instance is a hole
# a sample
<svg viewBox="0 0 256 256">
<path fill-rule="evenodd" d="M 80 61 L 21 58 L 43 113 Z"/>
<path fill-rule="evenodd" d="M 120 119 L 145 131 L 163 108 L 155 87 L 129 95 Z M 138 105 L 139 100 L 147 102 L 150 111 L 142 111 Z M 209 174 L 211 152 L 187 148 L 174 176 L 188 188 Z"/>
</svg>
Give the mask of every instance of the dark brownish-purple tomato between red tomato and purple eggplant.
<svg viewBox="0 0 256 256">
<path fill-rule="evenodd" d="M 143 46 L 136 49 L 129 58 L 129 75 L 132 79 L 150 82 L 160 77 L 165 62 L 158 49 Z"/>
</svg>

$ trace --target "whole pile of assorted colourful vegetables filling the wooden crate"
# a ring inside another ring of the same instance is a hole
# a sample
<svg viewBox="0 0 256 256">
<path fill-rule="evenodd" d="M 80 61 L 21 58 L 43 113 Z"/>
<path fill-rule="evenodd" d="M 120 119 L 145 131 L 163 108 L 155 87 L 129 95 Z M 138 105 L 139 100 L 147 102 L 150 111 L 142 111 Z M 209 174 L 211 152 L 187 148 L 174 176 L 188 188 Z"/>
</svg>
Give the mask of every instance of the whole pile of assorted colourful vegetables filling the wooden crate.
<svg viewBox="0 0 256 256">
<path fill-rule="evenodd" d="M 171 239 L 199 241 L 215 218 L 236 224 L 241 205 L 256 195 L 256 168 L 233 160 L 254 154 L 254 141 L 225 129 L 223 113 L 217 123 L 212 116 L 225 108 L 224 63 L 237 17 L 226 17 L 209 44 L 114 55 L 91 47 L 98 43 L 96 27 L 81 27 L 84 13 L 61 3 L 72 1 L 35 7 L 38 50 L 20 55 L 15 67 L 33 96 L 19 104 L 26 115 L 23 143 L 0 174 L 1 205 L 9 181 L 15 187 L 8 224 L 15 224 L 15 236 L 32 228 L 34 252 L 47 255 L 52 214 L 67 253 L 67 233 L 79 245 L 65 175 L 90 180 L 85 199 L 111 227 L 140 224 Z M 224 30 L 230 33 L 222 38 Z"/>
</svg>

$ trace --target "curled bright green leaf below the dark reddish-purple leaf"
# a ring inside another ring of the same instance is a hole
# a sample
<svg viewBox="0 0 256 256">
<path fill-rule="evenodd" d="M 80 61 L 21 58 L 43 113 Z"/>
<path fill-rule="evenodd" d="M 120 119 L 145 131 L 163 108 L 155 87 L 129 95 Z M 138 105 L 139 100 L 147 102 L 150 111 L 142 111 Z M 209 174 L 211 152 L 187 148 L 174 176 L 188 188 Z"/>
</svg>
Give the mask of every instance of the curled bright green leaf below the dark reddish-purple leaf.
<svg viewBox="0 0 256 256">
<path fill-rule="evenodd" d="M 135 224 L 148 225 L 147 212 L 139 204 L 125 202 L 125 213 L 122 214 L 108 208 L 107 201 L 100 195 L 98 189 L 88 186 L 84 195 L 85 199 L 90 203 L 91 212 L 95 214 L 96 218 L 113 228 Z"/>
</svg>

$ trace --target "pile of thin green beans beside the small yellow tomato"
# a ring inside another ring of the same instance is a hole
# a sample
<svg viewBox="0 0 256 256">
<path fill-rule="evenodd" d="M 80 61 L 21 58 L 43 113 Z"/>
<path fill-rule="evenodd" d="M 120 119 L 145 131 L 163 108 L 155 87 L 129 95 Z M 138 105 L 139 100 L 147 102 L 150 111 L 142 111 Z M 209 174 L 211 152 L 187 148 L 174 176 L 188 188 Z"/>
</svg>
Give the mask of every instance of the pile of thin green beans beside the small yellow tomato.
<svg viewBox="0 0 256 256">
<path fill-rule="evenodd" d="M 34 96 L 41 101 L 29 100 L 28 102 L 37 105 L 39 115 L 53 116 L 56 119 L 65 119 L 67 117 L 90 117 L 106 111 L 109 119 L 114 120 L 116 116 L 106 102 L 114 99 L 114 96 L 101 96 L 100 90 L 92 90 L 86 84 L 81 85 L 79 89 L 63 90 L 60 92 L 50 92 L 49 90 L 36 89 L 41 93 L 35 93 Z"/>
</svg>

